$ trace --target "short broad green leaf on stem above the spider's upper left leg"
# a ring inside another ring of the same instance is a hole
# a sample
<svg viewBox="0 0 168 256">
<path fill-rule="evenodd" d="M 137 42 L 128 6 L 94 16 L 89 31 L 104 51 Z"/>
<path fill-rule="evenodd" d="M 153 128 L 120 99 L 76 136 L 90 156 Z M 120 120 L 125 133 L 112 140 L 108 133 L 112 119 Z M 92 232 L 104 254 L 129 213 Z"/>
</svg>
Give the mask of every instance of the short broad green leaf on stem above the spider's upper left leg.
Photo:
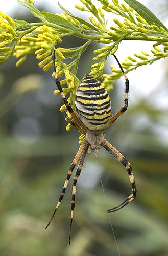
<svg viewBox="0 0 168 256">
<path fill-rule="evenodd" d="M 75 32 L 79 32 L 78 29 L 73 24 L 71 24 L 70 22 L 68 22 L 68 20 L 62 18 L 57 14 L 53 14 L 50 12 L 40 12 L 40 14 L 42 14 L 45 20 L 47 20 L 50 23 L 69 28 Z"/>
</svg>

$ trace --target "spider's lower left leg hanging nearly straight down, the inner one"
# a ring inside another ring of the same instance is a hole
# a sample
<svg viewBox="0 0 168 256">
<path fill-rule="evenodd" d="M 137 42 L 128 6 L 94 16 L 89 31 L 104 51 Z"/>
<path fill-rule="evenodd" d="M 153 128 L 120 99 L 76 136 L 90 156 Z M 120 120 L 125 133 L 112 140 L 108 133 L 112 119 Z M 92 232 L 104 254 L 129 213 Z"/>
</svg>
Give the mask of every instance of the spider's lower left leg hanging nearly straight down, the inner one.
<svg viewBox="0 0 168 256">
<path fill-rule="evenodd" d="M 86 157 L 86 153 L 88 151 L 88 148 L 89 148 L 89 144 L 87 143 L 87 144 L 85 144 L 85 147 L 83 149 L 83 152 L 82 152 L 79 164 L 78 164 L 77 172 L 76 172 L 74 180 L 73 180 L 73 192 L 72 192 L 72 199 L 71 199 L 70 227 L 69 227 L 69 244 L 70 244 L 70 237 L 71 237 L 71 228 L 72 228 L 72 225 L 73 225 L 77 181 L 78 181 L 78 178 L 81 174 L 82 166 L 83 166 L 84 159 Z"/>
</svg>

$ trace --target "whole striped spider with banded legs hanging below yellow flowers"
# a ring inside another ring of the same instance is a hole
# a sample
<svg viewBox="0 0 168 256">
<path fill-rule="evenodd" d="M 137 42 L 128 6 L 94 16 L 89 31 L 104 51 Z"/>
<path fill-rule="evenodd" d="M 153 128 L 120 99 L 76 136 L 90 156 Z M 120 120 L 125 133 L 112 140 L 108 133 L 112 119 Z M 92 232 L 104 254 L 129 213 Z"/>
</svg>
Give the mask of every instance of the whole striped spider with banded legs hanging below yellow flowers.
<svg viewBox="0 0 168 256">
<path fill-rule="evenodd" d="M 66 188 L 69 183 L 70 176 L 79 161 L 77 171 L 73 180 L 73 191 L 71 197 L 71 214 L 70 214 L 70 227 L 69 227 L 69 244 L 70 244 L 70 237 L 71 237 L 71 227 L 73 223 L 74 217 L 74 208 L 75 208 L 75 197 L 76 197 L 76 186 L 77 181 L 80 176 L 84 159 L 86 157 L 87 151 L 91 148 L 95 154 L 98 154 L 100 146 L 104 147 L 110 154 L 112 154 L 116 160 L 122 163 L 128 172 L 129 180 L 132 187 L 132 194 L 121 204 L 118 206 L 107 210 L 108 213 L 117 211 L 122 209 L 128 203 L 130 203 L 136 197 L 136 185 L 135 179 L 132 172 L 132 167 L 127 159 L 116 150 L 114 146 L 112 146 L 107 140 L 105 140 L 104 131 L 119 117 L 121 116 L 128 108 L 128 92 L 129 92 L 129 80 L 119 63 L 118 59 L 115 55 L 113 55 L 116 59 L 119 68 L 122 70 L 122 73 L 125 77 L 125 98 L 124 98 L 124 106 L 121 110 L 117 111 L 114 115 L 111 115 L 111 101 L 108 95 L 108 92 L 103 87 L 101 82 L 97 79 L 93 78 L 92 76 L 86 74 L 84 75 L 83 79 L 81 80 L 78 89 L 75 95 L 75 109 L 76 113 L 71 108 L 70 104 L 68 103 L 66 96 L 62 90 L 60 82 L 58 80 L 56 74 L 56 67 L 55 67 L 55 51 L 53 55 L 53 66 L 54 66 L 54 73 L 55 73 L 55 82 L 56 85 L 61 93 L 61 97 L 64 101 L 66 106 L 66 110 L 70 113 L 70 115 L 75 120 L 74 122 L 71 121 L 66 112 L 64 111 L 64 115 L 67 118 L 68 122 L 73 125 L 79 132 L 85 135 L 85 139 L 83 140 L 82 144 L 79 147 L 79 150 L 70 165 L 70 168 L 67 172 L 66 180 L 60 194 L 58 203 L 55 207 L 53 215 L 46 225 L 47 228 L 53 217 L 60 206 L 60 203 L 65 195 Z"/>
</svg>

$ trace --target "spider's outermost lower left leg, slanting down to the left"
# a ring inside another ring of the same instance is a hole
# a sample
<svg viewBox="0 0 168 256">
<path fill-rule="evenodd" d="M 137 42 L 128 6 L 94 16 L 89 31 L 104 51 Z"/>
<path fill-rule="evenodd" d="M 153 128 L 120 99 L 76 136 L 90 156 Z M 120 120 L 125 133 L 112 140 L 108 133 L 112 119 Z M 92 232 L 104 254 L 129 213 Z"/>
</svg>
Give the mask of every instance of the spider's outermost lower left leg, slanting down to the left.
<svg viewBox="0 0 168 256">
<path fill-rule="evenodd" d="M 70 176 L 71 176 L 71 174 L 72 174 L 72 172 L 73 172 L 73 170 L 74 170 L 76 164 L 77 164 L 78 161 L 79 161 L 79 158 L 80 158 L 80 156 L 81 156 L 81 154 L 82 154 L 82 152 L 83 152 L 83 150 L 84 150 L 84 148 L 85 148 L 85 144 L 86 144 L 86 141 L 84 140 L 84 141 L 82 142 L 82 144 L 80 145 L 79 150 L 78 150 L 78 152 L 77 152 L 77 154 L 76 154 L 76 156 L 75 156 L 73 162 L 72 162 L 71 165 L 70 165 L 70 168 L 69 168 L 69 170 L 68 170 L 68 172 L 67 172 L 66 180 L 65 180 L 65 183 L 64 183 L 62 192 L 61 192 L 61 194 L 60 194 L 58 203 L 57 203 L 57 205 L 56 205 L 56 207 L 55 207 L 55 210 L 54 210 L 54 212 L 53 212 L 53 215 L 52 215 L 52 217 L 51 217 L 49 223 L 46 225 L 45 229 L 46 229 L 46 228 L 50 225 L 50 223 L 52 222 L 53 217 L 54 217 L 54 215 L 55 215 L 55 213 L 56 213 L 58 207 L 60 206 L 60 203 L 61 203 L 61 201 L 62 201 L 62 199 L 63 199 L 63 197 L 64 197 L 64 195 L 65 195 L 65 191 L 66 191 L 66 188 L 67 188 L 67 186 L 68 186 Z"/>
</svg>

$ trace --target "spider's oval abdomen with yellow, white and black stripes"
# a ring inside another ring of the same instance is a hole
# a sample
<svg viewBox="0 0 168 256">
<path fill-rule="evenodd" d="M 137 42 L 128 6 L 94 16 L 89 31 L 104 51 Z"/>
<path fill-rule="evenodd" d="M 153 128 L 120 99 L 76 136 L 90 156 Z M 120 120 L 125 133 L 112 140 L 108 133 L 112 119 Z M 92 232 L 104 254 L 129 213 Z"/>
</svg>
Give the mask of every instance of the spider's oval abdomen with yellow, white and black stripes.
<svg viewBox="0 0 168 256">
<path fill-rule="evenodd" d="M 111 101 L 102 84 L 90 75 L 84 75 L 76 92 L 75 106 L 78 118 L 92 132 L 107 129 L 111 116 Z"/>
</svg>

